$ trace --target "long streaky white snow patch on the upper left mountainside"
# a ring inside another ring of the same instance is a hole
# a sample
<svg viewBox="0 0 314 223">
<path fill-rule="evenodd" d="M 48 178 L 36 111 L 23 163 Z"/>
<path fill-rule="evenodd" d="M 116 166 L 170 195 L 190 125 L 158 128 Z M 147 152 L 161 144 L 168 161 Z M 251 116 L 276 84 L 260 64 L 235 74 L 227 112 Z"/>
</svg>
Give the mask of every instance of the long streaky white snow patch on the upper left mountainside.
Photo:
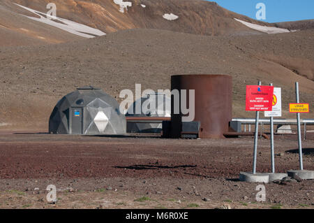
<svg viewBox="0 0 314 223">
<path fill-rule="evenodd" d="M 16 3 L 15 3 L 16 4 Z M 43 22 L 45 24 L 49 24 L 53 27 L 57 27 L 59 29 L 63 29 L 64 31 L 68 31 L 71 34 L 75 34 L 77 36 L 82 36 L 85 38 L 94 38 L 95 36 L 104 36 L 105 33 L 103 31 L 100 31 L 99 29 L 94 29 L 91 27 L 88 27 L 87 25 L 80 24 L 77 22 L 73 22 L 71 20 L 66 20 L 61 17 L 54 17 L 52 15 L 46 15 L 46 13 L 42 13 L 38 10 L 33 10 L 31 8 L 27 8 L 25 6 L 21 6 L 19 4 L 16 4 L 17 6 L 20 6 L 26 10 L 29 10 L 31 13 L 34 13 L 39 16 L 37 17 L 31 17 L 24 15 L 25 17 L 28 17 L 31 20 L 36 20 L 38 22 Z M 47 16 L 44 17 L 43 15 Z M 58 21 L 58 22 L 55 22 Z"/>
</svg>

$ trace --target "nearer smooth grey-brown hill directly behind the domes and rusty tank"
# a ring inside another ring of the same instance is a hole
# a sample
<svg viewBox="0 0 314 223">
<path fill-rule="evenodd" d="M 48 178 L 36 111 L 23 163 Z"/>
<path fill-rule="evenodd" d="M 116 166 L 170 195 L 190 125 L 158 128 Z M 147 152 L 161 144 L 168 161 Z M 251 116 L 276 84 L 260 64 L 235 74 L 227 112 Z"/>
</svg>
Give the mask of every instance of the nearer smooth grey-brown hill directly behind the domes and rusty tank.
<svg viewBox="0 0 314 223">
<path fill-rule="evenodd" d="M 312 36 L 313 31 L 299 31 L 221 38 L 131 29 L 73 43 L 0 48 L 0 122 L 47 128 L 55 103 L 76 87 L 94 85 L 118 98 L 135 83 L 143 89 L 168 89 L 170 76 L 182 73 L 232 75 L 234 117 L 254 115 L 244 111 L 246 85 L 259 79 L 264 85 L 273 82 L 283 87 L 283 117 L 294 117 L 287 106 L 295 100 L 295 81 L 301 101 L 311 108 L 314 104 L 313 80 L 298 74 L 313 75 L 313 67 L 297 63 L 313 64 Z"/>
</svg>

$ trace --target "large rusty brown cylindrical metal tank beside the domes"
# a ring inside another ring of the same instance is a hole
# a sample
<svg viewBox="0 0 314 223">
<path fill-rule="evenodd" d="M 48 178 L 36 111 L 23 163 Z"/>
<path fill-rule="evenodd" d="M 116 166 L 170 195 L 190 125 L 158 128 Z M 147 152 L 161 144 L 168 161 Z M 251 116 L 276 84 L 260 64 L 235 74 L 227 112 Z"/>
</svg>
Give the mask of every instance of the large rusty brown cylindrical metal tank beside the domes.
<svg viewBox="0 0 314 223">
<path fill-rule="evenodd" d="M 195 118 L 200 122 L 200 138 L 224 138 L 232 120 L 232 77 L 230 75 L 172 75 L 171 89 L 180 92 L 180 114 L 174 114 L 172 96 L 171 133 L 181 136 L 181 89 L 186 89 L 189 108 L 189 90 L 195 90 Z M 186 116 L 186 115 L 185 115 Z"/>
</svg>

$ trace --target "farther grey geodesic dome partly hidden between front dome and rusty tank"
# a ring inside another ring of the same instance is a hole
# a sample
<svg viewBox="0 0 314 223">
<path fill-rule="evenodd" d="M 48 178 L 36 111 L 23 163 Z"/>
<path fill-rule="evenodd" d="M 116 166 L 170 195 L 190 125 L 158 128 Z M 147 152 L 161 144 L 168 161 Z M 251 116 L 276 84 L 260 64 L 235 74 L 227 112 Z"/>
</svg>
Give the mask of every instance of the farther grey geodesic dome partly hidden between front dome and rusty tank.
<svg viewBox="0 0 314 223">
<path fill-rule="evenodd" d="M 140 104 L 140 113 L 136 113 L 136 103 Z M 143 110 L 148 108 L 147 110 Z M 151 106 L 150 106 L 151 105 Z M 171 117 L 171 98 L 165 94 L 147 94 L 134 101 L 128 108 L 126 117 Z M 160 133 L 163 130 L 161 123 L 133 123 L 126 124 L 128 133 Z"/>
</svg>

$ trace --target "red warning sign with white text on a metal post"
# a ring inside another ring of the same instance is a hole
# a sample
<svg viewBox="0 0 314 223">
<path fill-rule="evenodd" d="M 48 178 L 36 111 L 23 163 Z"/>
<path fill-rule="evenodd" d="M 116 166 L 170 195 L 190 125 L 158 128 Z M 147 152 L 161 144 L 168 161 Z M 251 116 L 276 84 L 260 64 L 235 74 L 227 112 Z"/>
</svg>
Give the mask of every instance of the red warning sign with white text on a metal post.
<svg viewBox="0 0 314 223">
<path fill-rule="evenodd" d="M 273 110 L 273 86 L 246 86 L 246 110 L 271 111 Z"/>
</svg>

